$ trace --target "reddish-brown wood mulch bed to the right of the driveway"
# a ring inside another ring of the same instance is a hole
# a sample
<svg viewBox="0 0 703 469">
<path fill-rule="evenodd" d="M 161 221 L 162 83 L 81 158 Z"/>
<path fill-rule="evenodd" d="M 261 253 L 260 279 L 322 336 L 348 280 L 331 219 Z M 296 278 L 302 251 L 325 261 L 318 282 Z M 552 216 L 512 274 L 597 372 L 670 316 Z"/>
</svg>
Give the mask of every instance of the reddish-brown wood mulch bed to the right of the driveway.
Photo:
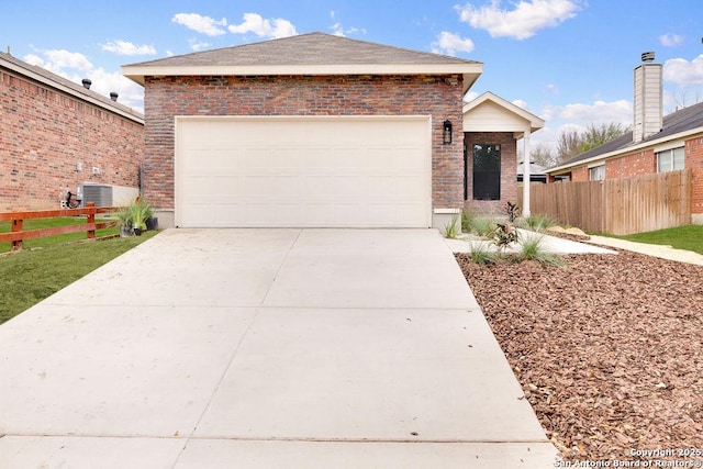
<svg viewBox="0 0 703 469">
<path fill-rule="evenodd" d="M 703 461 L 632 454 L 703 451 L 703 267 L 629 252 L 565 267 L 456 258 L 566 461 Z"/>
</svg>

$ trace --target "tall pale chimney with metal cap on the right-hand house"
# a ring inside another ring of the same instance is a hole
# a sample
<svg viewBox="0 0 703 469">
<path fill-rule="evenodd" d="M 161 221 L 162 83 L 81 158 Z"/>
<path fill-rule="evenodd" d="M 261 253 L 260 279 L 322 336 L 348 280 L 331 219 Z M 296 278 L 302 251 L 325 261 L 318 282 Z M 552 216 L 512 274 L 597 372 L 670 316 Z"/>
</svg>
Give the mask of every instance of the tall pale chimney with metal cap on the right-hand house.
<svg viewBox="0 0 703 469">
<path fill-rule="evenodd" d="M 661 64 L 654 60 L 655 53 L 646 52 L 641 55 L 641 64 L 635 67 L 634 143 L 656 134 L 662 126 Z"/>
</svg>

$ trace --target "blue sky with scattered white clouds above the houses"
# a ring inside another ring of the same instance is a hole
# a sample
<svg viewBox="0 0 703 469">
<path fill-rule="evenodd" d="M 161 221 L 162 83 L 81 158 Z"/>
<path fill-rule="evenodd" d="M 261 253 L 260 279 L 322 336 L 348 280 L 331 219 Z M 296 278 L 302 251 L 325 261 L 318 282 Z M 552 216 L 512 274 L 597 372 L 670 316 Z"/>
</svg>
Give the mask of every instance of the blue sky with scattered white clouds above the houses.
<svg viewBox="0 0 703 469">
<path fill-rule="evenodd" d="M 0 7 L 0 48 L 143 110 L 120 66 L 322 31 L 482 62 L 492 91 L 563 129 L 632 124 L 633 69 L 665 65 L 665 113 L 703 101 L 701 0 L 24 0 Z"/>
</svg>

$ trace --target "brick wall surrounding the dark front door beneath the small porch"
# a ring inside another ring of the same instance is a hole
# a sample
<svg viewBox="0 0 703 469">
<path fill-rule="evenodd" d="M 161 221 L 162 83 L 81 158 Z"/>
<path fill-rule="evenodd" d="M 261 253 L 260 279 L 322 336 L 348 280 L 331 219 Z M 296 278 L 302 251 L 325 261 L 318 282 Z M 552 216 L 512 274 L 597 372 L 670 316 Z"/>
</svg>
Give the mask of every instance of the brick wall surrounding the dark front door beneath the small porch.
<svg viewBox="0 0 703 469">
<path fill-rule="evenodd" d="M 503 214 L 506 202 L 517 202 L 517 142 L 512 132 L 467 132 L 467 200 L 465 208 L 478 213 Z M 501 146 L 501 200 L 473 200 L 473 153 L 476 144 Z"/>
</svg>

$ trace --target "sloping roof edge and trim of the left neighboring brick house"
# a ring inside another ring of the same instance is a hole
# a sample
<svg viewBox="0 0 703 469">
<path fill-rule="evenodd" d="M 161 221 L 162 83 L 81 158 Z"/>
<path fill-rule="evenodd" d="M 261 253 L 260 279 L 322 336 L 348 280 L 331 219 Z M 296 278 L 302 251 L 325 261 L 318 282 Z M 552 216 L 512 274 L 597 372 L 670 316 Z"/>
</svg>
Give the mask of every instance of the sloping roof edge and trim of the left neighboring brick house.
<svg viewBox="0 0 703 469">
<path fill-rule="evenodd" d="M 36 80 L 38 78 L 44 81 L 45 85 L 49 85 L 57 90 L 62 90 L 62 88 L 68 88 L 68 90 L 63 91 L 68 91 L 77 98 L 93 102 L 94 104 L 104 108 L 107 111 L 115 112 L 122 115 L 127 114 L 127 116 L 136 119 L 137 121 L 144 123 L 144 115 L 136 112 L 132 108 L 113 101 L 112 99 L 96 91 L 86 89 L 82 85 L 76 83 L 59 75 L 53 74 L 45 68 L 27 64 L 26 62 L 22 62 L 10 54 L 0 52 L 0 68 L 12 69 L 14 72 L 20 74 L 29 79 Z"/>
</svg>

